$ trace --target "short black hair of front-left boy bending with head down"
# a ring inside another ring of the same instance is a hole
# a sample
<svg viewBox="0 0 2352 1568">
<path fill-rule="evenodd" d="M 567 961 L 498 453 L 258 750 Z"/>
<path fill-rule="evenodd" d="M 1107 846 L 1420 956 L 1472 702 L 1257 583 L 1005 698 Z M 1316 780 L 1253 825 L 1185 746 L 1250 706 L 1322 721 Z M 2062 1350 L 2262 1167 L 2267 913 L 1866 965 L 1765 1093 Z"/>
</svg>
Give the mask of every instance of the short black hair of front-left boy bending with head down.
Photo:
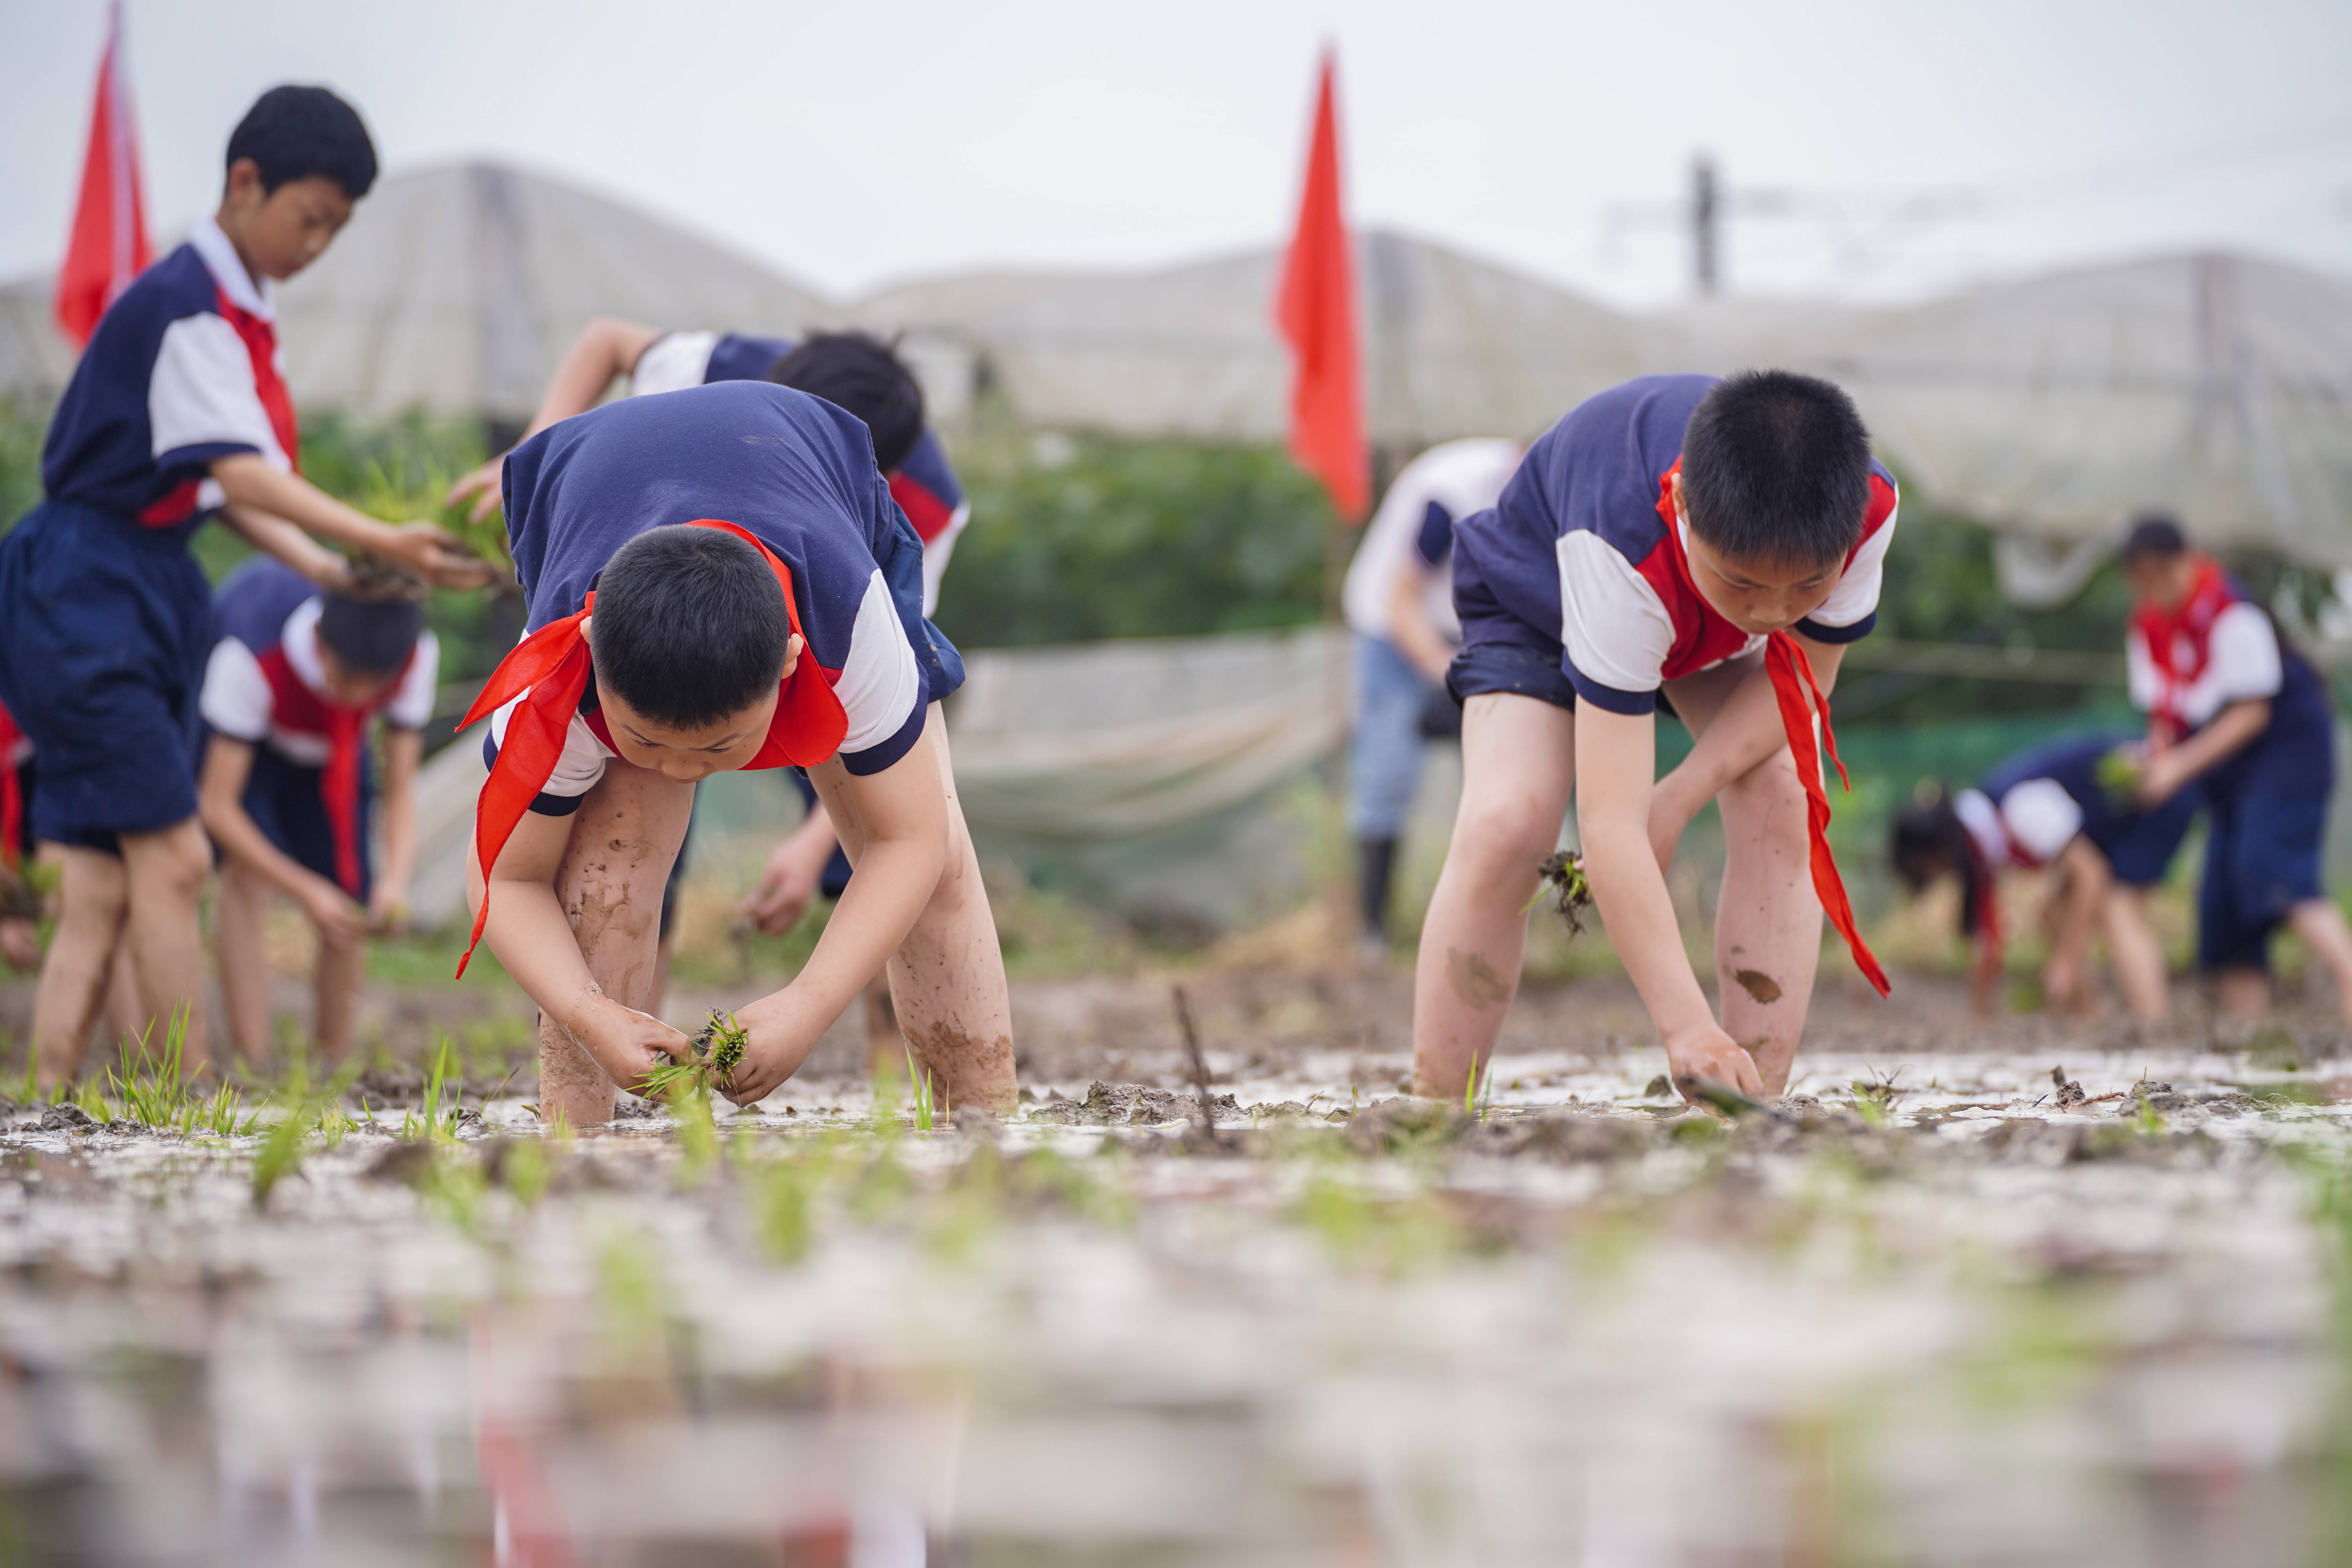
<svg viewBox="0 0 2352 1568">
<path fill-rule="evenodd" d="M 724 529 L 661 527 L 604 562 L 588 651 L 597 679 L 659 724 L 699 729 L 783 679 L 793 621 L 767 557 Z"/>
</svg>

